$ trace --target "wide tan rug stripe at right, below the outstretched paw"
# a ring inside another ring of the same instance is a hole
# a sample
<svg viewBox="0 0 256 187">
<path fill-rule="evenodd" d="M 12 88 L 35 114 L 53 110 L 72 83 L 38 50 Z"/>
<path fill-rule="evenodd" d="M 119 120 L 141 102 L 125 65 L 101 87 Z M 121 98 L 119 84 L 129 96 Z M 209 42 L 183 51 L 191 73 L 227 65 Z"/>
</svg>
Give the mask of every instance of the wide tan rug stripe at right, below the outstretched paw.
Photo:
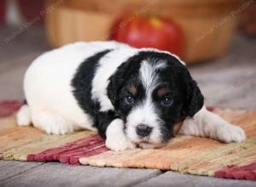
<svg viewBox="0 0 256 187">
<path fill-rule="evenodd" d="M 171 169 L 180 173 L 190 173 L 213 176 L 220 168 L 256 161 L 256 138 L 248 139 L 243 144 L 227 144 L 226 146 L 209 150 L 199 156 L 180 161 L 171 165 Z"/>
</svg>

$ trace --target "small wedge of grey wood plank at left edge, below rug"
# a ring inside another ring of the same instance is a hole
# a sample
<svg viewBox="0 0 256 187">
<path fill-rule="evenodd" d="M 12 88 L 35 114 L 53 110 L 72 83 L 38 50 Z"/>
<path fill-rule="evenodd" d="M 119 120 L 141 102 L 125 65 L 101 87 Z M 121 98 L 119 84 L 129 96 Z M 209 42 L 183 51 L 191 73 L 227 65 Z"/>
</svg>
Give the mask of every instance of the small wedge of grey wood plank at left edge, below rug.
<svg viewBox="0 0 256 187">
<path fill-rule="evenodd" d="M 41 166 L 42 162 L 0 161 L 0 186 L 3 181 L 34 167 Z"/>
</svg>

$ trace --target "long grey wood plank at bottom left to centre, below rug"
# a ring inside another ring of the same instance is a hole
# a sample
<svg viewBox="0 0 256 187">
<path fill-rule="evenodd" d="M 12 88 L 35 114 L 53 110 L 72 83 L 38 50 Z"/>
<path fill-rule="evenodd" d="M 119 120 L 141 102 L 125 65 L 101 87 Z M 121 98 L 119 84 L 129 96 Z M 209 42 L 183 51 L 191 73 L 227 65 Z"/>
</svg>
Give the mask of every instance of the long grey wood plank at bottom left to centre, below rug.
<svg viewBox="0 0 256 187">
<path fill-rule="evenodd" d="M 16 163 L 16 162 L 15 162 Z M 31 163 L 27 163 L 31 164 Z M 14 166 L 15 167 L 15 164 Z M 4 186 L 131 186 L 160 175 L 160 170 L 71 166 L 45 163 L 3 180 Z"/>
</svg>

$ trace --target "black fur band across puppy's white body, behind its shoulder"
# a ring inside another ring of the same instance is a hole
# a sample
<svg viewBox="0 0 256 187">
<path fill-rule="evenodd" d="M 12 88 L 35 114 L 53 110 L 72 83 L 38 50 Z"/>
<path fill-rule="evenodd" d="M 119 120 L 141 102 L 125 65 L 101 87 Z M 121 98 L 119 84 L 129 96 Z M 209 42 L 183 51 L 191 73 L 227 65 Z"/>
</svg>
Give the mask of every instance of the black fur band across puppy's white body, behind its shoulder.
<svg viewBox="0 0 256 187">
<path fill-rule="evenodd" d="M 99 60 L 105 54 L 108 54 L 111 50 L 104 50 L 97 53 L 79 66 L 77 73 L 73 77 L 73 95 L 77 99 L 79 106 L 83 109 L 86 114 L 94 120 L 94 126 L 98 129 L 98 132 L 103 139 L 106 139 L 106 130 L 111 121 L 117 118 L 113 111 L 100 112 L 100 104 L 91 99 L 92 80 L 95 76 L 96 67 Z"/>
</svg>

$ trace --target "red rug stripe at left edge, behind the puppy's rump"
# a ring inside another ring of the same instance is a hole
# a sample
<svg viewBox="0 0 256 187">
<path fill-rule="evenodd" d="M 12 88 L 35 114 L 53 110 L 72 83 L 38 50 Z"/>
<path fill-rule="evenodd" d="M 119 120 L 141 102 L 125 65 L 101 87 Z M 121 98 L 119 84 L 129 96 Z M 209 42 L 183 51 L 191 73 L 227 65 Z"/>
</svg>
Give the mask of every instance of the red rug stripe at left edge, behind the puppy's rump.
<svg viewBox="0 0 256 187">
<path fill-rule="evenodd" d="M 20 109 L 21 105 L 23 105 L 21 101 L 1 101 L 0 118 L 12 115 L 15 111 Z"/>
</svg>

